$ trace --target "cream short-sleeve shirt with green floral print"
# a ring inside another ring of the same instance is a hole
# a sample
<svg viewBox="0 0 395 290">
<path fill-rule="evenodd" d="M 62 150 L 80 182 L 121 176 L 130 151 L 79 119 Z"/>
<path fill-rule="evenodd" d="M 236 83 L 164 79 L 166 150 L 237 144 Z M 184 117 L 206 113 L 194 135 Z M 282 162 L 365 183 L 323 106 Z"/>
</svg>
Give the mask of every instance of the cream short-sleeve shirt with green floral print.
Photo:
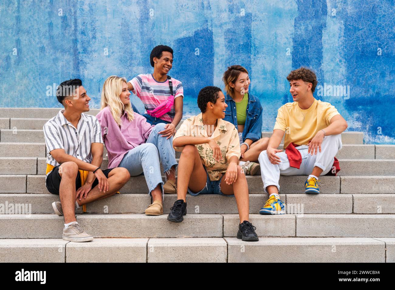
<svg viewBox="0 0 395 290">
<path fill-rule="evenodd" d="M 207 131 L 210 131 L 210 125 L 203 125 L 203 114 L 186 119 L 181 127 L 177 130 L 174 139 L 181 136 L 192 137 L 209 137 Z M 221 149 L 222 161 L 217 162 L 213 156 L 213 149 L 209 143 L 195 145 L 198 149 L 200 159 L 209 175 L 210 180 L 220 180 L 226 172 L 229 165 L 229 158 L 237 156 L 240 158 L 240 141 L 235 126 L 222 119 L 218 119 L 217 126 L 211 135 Z M 176 151 L 182 151 L 183 147 L 174 147 Z"/>
</svg>

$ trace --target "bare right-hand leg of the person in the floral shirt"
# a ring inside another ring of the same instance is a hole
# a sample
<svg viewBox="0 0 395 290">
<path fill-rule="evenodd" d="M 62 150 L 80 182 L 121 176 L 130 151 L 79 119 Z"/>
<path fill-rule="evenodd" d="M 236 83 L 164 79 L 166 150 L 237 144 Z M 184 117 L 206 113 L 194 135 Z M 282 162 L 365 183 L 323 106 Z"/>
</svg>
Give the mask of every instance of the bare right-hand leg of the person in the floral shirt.
<svg viewBox="0 0 395 290">
<path fill-rule="evenodd" d="M 243 221 L 248 221 L 250 212 L 248 184 L 244 171 L 239 165 L 237 165 L 237 179 L 235 182 L 233 182 L 233 184 L 226 184 L 225 177 L 222 177 L 221 191 L 224 194 L 235 195 L 240 223 L 243 223 Z"/>
</svg>

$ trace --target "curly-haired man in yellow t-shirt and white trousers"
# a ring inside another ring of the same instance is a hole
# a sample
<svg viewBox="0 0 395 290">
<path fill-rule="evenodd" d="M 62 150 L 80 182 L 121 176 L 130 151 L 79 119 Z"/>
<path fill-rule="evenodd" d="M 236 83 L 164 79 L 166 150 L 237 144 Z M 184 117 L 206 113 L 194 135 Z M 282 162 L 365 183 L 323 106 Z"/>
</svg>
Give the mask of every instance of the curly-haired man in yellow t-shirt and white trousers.
<svg viewBox="0 0 395 290">
<path fill-rule="evenodd" d="M 260 214 L 285 213 L 278 195 L 280 174 L 308 175 L 305 193 L 320 193 L 318 177 L 331 170 L 342 147 L 340 134 L 348 126 L 334 106 L 314 99 L 317 78 L 313 71 L 301 67 L 290 72 L 287 80 L 294 102 L 278 109 L 267 150 L 258 158 L 263 187 L 269 193 Z M 277 149 L 284 133 L 286 152 Z"/>
</svg>

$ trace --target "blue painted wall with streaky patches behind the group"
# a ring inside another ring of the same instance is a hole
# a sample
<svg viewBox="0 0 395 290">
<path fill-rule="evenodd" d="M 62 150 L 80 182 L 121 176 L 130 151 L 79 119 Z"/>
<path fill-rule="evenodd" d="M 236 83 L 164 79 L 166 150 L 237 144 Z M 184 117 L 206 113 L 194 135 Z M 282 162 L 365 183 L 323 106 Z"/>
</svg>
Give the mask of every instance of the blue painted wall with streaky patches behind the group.
<svg viewBox="0 0 395 290">
<path fill-rule="evenodd" d="M 277 108 L 292 101 L 287 74 L 305 65 L 322 86 L 314 96 L 335 105 L 348 130 L 395 143 L 394 15 L 393 0 L 6 0 L 0 107 L 59 107 L 47 86 L 81 78 L 98 108 L 108 76 L 151 72 L 150 50 L 166 44 L 186 115 L 198 113 L 201 87 L 222 88 L 226 67 L 240 64 L 272 130 Z"/>
</svg>

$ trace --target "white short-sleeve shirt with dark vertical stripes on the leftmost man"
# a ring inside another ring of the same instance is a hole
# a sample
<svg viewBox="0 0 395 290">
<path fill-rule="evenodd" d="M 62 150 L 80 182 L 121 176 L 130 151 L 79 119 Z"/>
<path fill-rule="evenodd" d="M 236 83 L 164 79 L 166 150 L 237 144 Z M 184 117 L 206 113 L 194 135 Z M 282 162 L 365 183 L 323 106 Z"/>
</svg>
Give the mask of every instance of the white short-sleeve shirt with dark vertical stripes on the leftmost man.
<svg viewBox="0 0 395 290">
<path fill-rule="evenodd" d="M 47 164 L 59 165 L 49 153 L 54 149 L 64 149 L 66 154 L 90 163 L 92 143 L 103 143 L 102 130 L 96 117 L 81 113 L 77 128 L 63 115 L 64 109 L 43 126 L 47 146 Z"/>
</svg>

